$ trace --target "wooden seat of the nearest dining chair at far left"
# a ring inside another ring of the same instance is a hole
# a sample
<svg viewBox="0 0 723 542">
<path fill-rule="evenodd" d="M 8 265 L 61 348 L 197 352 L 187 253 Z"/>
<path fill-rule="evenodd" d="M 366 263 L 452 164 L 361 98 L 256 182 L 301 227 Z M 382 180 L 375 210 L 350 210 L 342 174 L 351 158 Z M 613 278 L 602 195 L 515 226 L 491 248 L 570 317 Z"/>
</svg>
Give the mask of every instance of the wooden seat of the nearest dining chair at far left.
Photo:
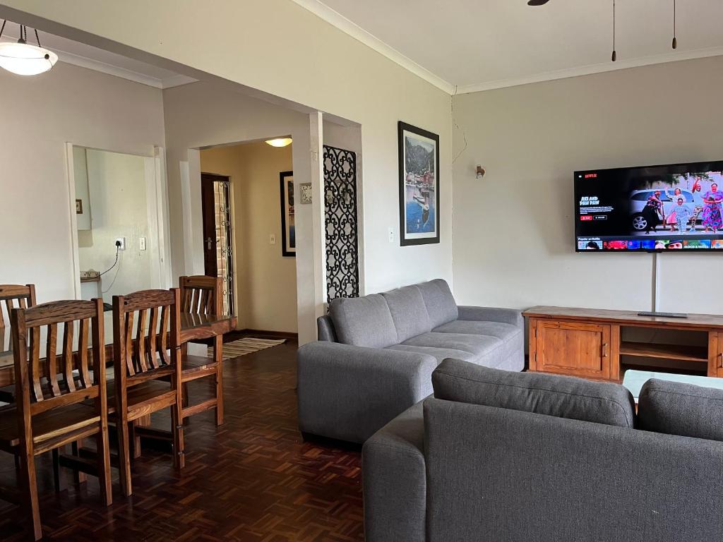
<svg viewBox="0 0 723 542">
<path fill-rule="evenodd" d="M 33 443 L 46 443 L 74 431 L 82 431 L 97 425 L 100 416 L 93 405 L 78 403 L 67 407 L 54 408 L 33 416 Z M 94 428 L 95 429 L 95 428 Z M 0 447 L 10 449 L 20 446 L 17 426 L 17 409 L 0 410 Z M 44 446 L 50 449 L 51 447 Z"/>
</svg>

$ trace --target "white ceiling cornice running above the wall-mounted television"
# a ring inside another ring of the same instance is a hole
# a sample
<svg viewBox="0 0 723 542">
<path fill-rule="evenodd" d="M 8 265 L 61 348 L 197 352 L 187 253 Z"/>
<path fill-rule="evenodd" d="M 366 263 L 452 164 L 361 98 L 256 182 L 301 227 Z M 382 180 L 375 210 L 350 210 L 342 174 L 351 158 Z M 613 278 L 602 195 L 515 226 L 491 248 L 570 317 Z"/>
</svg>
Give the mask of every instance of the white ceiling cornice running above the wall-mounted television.
<svg viewBox="0 0 723 542">
<path fill-rule="evenodd" d="M 458 87 L 457 94 L 479 93 L 484 90 L 495 90 L 498 88 L 518 87 L 539 83 L 544 81 L 555 81 L 556 79 L 568 79 L 569 77 L 580 77 L 582 75 L 599 74 L 604 72 L 615 72 L 619 69 L 638 68 L 640 66 L 653 66 L 654 64 L 665 64 L 682 60 L 705 59 L 711 56 L 723 56 L 723 47 L 712 47 L 707 49 L 695 49 L 693 51 L 676 51 L 675 53 L 664 53 L 655 56 L 644 56 L 639 59 L 618 60 L 617 62 L 604 62 L 602 64 L 590 64 L 589 66 L 578 66 L 576 68 L 561 69 L 557 72 L 544 72 L 530 75 L 528 77 L 517 77 L 513 79 L 499 79 L 465 85 Z"/>
</svg>

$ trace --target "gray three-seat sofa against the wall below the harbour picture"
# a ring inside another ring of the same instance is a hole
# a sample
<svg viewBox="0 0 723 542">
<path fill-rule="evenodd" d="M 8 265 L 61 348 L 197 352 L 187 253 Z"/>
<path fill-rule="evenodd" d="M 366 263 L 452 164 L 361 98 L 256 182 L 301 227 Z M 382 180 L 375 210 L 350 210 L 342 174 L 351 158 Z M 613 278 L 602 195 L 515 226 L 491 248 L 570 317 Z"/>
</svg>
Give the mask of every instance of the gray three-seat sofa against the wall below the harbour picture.
<svg viewBox="0 0 723 542">
<path fill-rule="evenodd" d="M 461 358 L 509 371 L 524 366 L 520 311 L 457 306 L 441 279 L 335 299 L 319 341 L 299 348 L 299 429 L 364 442 L 432 393 L 432 371 Z"/>
</svg>

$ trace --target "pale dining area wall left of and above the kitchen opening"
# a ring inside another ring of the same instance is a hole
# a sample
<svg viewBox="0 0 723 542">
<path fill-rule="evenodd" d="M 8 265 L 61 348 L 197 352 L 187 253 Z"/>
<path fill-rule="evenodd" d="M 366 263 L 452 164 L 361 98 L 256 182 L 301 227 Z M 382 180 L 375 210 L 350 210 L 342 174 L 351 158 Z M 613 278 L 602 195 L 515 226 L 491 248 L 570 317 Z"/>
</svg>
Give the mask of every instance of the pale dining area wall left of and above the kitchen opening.
<svg viewBox="0 0 723 542">
<path fill-rule="evenodd" d="M 164 145 L 161 91 L 59 62 L 37 77 L 0 70 L 0 103 L 10 210 L 0 213 L 0 282 L 35 283 L 38 302 L 72 298 L 65 143 L 152 156 Z"/>
</svg>

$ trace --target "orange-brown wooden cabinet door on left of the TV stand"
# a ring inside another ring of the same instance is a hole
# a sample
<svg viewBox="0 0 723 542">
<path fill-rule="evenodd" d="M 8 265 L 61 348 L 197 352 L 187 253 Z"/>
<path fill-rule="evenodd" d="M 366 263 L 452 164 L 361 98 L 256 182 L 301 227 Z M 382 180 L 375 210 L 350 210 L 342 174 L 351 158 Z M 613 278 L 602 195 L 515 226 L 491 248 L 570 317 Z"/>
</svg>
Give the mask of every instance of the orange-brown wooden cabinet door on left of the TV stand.
<svg viewBox="0 0 723 542">
<path fill-rule="evenodd" d="M 610 378 L 610 326 L 538 321 L 536 370 Z"/>
</svg>

